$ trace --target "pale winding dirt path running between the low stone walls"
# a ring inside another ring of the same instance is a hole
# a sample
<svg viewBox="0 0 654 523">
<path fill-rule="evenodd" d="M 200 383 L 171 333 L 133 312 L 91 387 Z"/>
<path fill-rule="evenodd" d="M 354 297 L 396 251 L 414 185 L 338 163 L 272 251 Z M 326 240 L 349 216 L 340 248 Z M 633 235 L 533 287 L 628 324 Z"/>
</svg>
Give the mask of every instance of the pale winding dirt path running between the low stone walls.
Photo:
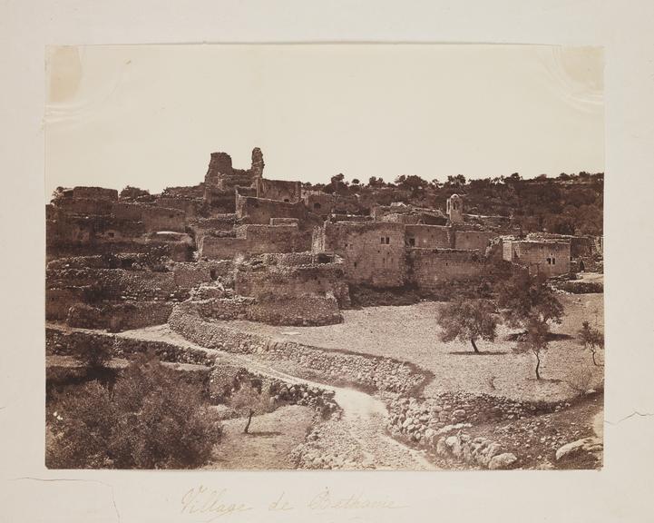
<svg viewBox="0 0 654 523">
<path fill-rule="evenodd" d="M 204 350 L 219 355 L 220 360 L 245 367 L 252 372 L 284 380 L 288 383 L 305 383 L 321 389 L 333 390 L 335 400 L 343 410 L 341 419 L 330 419 L 317 429 L 320 437 L 311 442 L 317 454 L 340 459 L 344 469 L 406 469 L 434 470 L 436 466 L 425 458 L 425 454 L 411 449 L 386 434 L 388 411 L 383 401 L 365 392 L 324 383 L 304 380 L 273 369 L 256 355 L 242 355 L 222 350 L 207 349 L 181 337 L 167 325 L 124 331 L 119 337 L 137 340 L 166 341 L 180 347 Z M 349 457 L 349 459 L 348 459 Z M 356 457 L 356 459 L 352 459 Z M 349 466 L 348 466 L 349 463 Z"/>
</svg>

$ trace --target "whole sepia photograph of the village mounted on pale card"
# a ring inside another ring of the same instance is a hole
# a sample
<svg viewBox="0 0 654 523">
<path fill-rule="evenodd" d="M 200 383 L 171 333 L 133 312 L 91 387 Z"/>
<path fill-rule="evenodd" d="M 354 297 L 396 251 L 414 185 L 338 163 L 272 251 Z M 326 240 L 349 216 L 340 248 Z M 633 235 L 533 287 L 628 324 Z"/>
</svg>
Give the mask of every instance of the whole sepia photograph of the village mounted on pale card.
<svg viewBox="0 0 654 523">
<path fill-rule="evenodd" d="M 48 47 L 45 466 L 601 469 L 603 78 L 599 47 Z"/>
</svg>

